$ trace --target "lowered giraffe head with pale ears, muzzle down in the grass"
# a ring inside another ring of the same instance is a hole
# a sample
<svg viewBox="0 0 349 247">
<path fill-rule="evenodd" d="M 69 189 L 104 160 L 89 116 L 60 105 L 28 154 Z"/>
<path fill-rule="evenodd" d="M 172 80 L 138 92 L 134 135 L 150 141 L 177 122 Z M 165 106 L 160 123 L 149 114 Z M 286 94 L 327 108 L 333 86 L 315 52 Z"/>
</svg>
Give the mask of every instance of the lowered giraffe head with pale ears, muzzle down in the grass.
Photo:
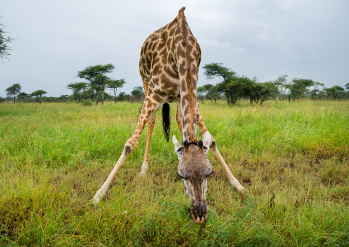
<svg viewBox="0 0 349 247">
<path fill-rule="evenodd" d="M 178 155 L 178 175 L 183 180 L 185 193 L 192 200 L 190 212 L 192 219 L 202 224 L 207 219 L 208 208 L 205 194 L 207 191 L 207 177 L 212 173 L 212 167 L 206 155 L 211 142 L 211 134 L 207 131 L 203 140 L 197 144 L 184 142 L 181 146 L 173 136 L 173 144 Z"/>
</svg>

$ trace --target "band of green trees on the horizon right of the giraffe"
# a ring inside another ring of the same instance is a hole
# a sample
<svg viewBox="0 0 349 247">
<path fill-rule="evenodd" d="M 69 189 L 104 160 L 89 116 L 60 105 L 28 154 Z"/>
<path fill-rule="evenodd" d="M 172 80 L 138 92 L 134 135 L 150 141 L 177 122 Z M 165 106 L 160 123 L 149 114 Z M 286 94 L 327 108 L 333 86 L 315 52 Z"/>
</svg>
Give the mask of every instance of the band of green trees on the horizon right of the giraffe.
<svg viewBox="0 0 349 247">
<path fill-rule="evenodd" d="M 197 88 L 201 102 L 203 98 L 217 100 L 225 98 L 227 104 L 235 104 L 238 99 L 249 99 L 253 103 L 260 104 L 269 98 L 280 100 L 297 100 L 300 98 L 316 99 L 341 99 L 349 98 L 349 83 L 344 87 L 339 85 L 326 88 L 323 83 L 308 78 L 293 78 L 288 80 L 286 74 L 282 74 L 276 80 L 258 83 L 256 77 L 238 76 L 236 72 L 222 63 L 210 63 L 203 66 L 205 76 L 208 79 L 221 78 L 216 85 L 206 84 Z M 205 93 L 205 95 L 204 95 Z"/>
</svg>

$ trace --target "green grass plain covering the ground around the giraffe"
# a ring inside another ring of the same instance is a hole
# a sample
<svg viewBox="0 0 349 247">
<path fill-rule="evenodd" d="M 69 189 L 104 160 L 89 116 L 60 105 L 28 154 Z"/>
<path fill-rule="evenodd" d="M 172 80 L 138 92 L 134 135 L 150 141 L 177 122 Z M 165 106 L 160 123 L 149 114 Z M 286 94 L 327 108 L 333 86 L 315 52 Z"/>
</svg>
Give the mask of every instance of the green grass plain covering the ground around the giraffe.
<svg viewBox="0 0 349 247">
<path fill-rule="evenodd" d="M 171 103 L 172 135 L 179 136 Z M 201 104 L 240 195 L 209 152 L 209 217 L 192 222 L 177 155 L 145 133 L 98 207 L 89 202 L 137 123 L 139 103 L 0 105 L 0 245 L 349 246 L 349 102 Z M 146 131 L 145 131 L 146 132 Z M 273 198 L 273 200 L 272 200 Z"/>
</svg>

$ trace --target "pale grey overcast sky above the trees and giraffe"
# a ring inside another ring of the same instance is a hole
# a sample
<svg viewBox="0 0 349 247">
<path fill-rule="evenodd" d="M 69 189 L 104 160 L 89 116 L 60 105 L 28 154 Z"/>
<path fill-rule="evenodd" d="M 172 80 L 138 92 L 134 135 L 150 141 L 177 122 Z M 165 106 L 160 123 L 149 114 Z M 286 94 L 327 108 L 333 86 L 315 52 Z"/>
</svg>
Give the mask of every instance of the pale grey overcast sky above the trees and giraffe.
<svg viewBox="0 0 349 247">
<path fill-rule="evenodd" d="M 223 63 L 260 82 L 281 74 L 326 87 L 349 83 L 349 1 L 0 0 L 1 23 L 12 38 L 10 61 L 0 61 L 0 96 L 14 83 L 30 94 L 71 94 L 79 70 L 112 63 L 127 94 L 141 86 L 139 53 L 145 39 L 185 16 L 202 52 L 199 86 L 217 83 L 203 65 Z"/>
</svg>

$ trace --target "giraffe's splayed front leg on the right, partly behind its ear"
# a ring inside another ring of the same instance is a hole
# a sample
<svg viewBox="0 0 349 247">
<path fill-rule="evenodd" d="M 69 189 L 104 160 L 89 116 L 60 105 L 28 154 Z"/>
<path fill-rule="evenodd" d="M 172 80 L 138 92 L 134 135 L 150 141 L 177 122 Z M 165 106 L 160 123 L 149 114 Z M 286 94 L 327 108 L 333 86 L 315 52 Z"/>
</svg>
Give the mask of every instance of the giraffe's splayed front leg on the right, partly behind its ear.
<svg viewBox="0 0 349 247">
<path fill-rule="evenodd" d="M 200 129 L 200 132 L 202 135 L 204 135 L 207 131 L 207 128 L 205 126 L 205 123 L 203 122 L 203 118 L 201 117 L 201 114 L 199 111 L 199 103 L 197 104 L 196 118 L 197 118 L 197 125 Z M 223 171 L 225 171 L 225 174 L 227 175 L 230 184 L 232 184 L 232 186 L 234 186 L 239 193 L 244 193 L 245 188 L 240 184 L 240 182 L 238 182 L 238 180 L 234 177 L 232 171 L 230 171 L 229 167 L 227 166 L 227 163 L 225 163 L 225 160 L 223 159 L 221 153 L 217 149 L 216 141 L 214 140 L 212 135 L 211 135 L 210 149 L 214 153 L 214 156 L 216 156 L 216 159 L 218 160 L 219 164 L 221 164 L 221 167 L 223 168 Z"/>
</svg>

